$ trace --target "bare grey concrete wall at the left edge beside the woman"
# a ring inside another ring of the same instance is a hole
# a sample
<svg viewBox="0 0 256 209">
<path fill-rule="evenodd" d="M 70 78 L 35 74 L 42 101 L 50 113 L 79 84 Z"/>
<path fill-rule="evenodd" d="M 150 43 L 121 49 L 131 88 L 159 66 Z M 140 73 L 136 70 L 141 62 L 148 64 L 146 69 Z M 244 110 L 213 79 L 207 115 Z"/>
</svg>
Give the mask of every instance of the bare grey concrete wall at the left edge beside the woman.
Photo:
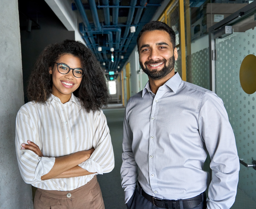
<svg viewBox="0 0 256 209">
<path fill-rule="evenodd" d="M 17 0 L 0 0 L 0 208 L 32 209 L 31 185 L 21 179 L 15 119 L 24 104 Z"/>
</svg>

